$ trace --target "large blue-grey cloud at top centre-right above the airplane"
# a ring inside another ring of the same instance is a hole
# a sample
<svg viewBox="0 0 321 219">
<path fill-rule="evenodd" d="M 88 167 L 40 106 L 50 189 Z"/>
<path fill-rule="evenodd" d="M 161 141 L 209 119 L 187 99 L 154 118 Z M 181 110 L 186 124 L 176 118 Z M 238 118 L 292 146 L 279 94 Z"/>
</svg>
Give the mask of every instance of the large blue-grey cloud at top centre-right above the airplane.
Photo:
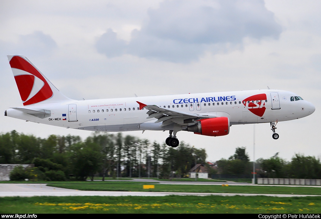
<svg viewBox="0 0 321 219">
<path fill-rule="evenodd" d="M 245 37 L 277 39 L 281 32 L 281 26 L 265 8 L 263 0 L 173 0 L 150 9 L 148 20 L 140 30 L 132 32 L 127 45 L 108 29 L 96 47 L 107 57 L 128 53 L 149 59 L 190 62 L 207 50 L 215 53 L 209 49 L 212 45 L 221 48 L 242 44 Z"/>
</svg>

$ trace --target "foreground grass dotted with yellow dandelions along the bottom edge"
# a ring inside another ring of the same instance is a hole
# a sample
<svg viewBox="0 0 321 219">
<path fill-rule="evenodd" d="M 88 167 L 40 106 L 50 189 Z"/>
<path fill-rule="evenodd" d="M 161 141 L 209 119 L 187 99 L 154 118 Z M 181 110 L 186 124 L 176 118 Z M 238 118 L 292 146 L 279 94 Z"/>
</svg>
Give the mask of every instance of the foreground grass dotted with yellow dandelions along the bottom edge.
<svg viewBox="0 0 321 219">
<path fill-rule="evenodd" d="M 6 197 L 0 213 L 320 213 L 321 197 Z"/>
</svg>

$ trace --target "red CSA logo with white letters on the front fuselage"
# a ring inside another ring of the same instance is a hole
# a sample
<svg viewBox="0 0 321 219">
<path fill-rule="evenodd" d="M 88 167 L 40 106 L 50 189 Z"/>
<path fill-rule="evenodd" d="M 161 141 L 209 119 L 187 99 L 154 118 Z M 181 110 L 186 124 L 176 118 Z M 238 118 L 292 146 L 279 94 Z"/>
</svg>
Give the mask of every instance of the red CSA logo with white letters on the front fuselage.
<svg viewBox="0 0 321 219">
<path fill-rule="evenodd" d="M 256 116 L 263 116 L 266 109 L 265 100 L 266 94 L 261 93 L 244 99 L 242 103 L 244 104 L 245 108 L 250 110 Z"/>
</svg>

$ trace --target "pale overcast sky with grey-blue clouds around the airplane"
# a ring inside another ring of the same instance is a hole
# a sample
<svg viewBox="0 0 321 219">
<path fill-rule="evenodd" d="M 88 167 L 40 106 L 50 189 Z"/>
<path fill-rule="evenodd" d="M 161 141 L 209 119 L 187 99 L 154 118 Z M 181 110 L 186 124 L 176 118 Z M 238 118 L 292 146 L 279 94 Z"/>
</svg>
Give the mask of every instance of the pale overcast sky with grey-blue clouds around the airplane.
<svg viewBox="0 0 321 219">
<path fill-rule="evenodd" d="M 0 1 L 0 111 L 22 106 L 6 55 L 25 55 L 62 93 L 81 100 L 271 89 L 315 105 L 305 118 L 255 125 L 255 159 L 277 152 L 321 158 L 321 1 L 91 0 Z M 0 116 L 0 132 L 92 132 Z M 207 160 L 245 147 L 253 160 L 254 125 L 221 137 L 178 132 Z M 125 132 L 162 143 L 168 132 Z"/>
</svg>

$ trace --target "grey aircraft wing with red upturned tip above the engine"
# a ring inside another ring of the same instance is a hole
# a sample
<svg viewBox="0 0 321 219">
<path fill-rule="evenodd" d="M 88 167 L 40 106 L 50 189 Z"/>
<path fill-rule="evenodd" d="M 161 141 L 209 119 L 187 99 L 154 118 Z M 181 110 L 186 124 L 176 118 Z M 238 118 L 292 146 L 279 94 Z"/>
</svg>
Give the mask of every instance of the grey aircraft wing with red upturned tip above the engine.
<svg viewBox="0 0 321 219">
<path fill-rule="evenodd" d="M 172 123 L 176 123 L 179 126 L 188 126 L 191 125 L 189 123 L 194 124 L 194 121 L 199 119 L 218 117 L 214 115 L 206 115 L 206 113 L 204 113 L 204 115 L 197 113 L 186 113 L 174 109 L 159 107 L 156 105 L 146 105 L 138 101 L 136 102 L 139 104 L 139 109 L 145 108 L 149 110 L 147 112 L 147 118 L 156 118 L 157 120 L 155 121 L 155 123 L 162 122 L 160 127 L 168 126 Z"/>
</svg>

